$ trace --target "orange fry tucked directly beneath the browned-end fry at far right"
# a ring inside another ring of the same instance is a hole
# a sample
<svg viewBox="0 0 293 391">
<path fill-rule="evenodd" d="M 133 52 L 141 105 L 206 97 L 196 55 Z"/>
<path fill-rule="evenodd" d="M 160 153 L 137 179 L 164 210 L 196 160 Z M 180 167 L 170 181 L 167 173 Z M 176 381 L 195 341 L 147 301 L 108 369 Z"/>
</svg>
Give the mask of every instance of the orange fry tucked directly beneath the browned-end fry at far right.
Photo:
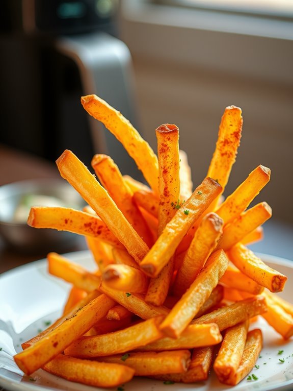
<svg viewBox="0 0 293 391">
<path fill-rule="evenodd" d="M 257 284 L 254 280 L 247 277 L 241 271 L 228 265 L 224 276 L 220 280 L 221 283 L 230 288 L 244 290 L 252 295 L 259 295 L 263 291 L 263 286 Z"/>
</svg>

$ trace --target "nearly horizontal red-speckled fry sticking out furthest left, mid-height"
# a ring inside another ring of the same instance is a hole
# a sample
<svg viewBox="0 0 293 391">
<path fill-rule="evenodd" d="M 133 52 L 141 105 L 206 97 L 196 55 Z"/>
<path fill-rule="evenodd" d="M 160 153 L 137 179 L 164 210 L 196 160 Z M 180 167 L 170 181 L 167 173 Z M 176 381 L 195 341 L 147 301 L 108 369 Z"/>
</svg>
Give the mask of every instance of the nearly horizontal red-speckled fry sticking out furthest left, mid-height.
<svg viewBox="0 0 293 391">
<path fill-rule="evenodd" d="M 99 237 L 110 245 L 123 248 L 106 224 L 98 216 L 80 210 L 52 206 L 31 208 L 28 225 L 34 228 L 54 228 L 79 235 Z"/>
</svg>

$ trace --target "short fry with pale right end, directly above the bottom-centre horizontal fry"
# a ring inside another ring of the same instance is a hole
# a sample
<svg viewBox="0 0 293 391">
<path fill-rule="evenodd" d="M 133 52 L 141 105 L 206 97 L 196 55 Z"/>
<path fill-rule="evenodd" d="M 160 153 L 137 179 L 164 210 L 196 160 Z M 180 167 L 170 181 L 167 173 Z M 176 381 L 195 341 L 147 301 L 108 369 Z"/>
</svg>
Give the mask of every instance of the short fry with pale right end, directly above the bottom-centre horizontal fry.
<svg viewBox="0 0 293 391">
<path fill-rule="evenodd" d="M 221 341 L 222 335 L 215 323 L 189 325 L 178 338 L 161 338 L 151 344 L 141 346 L 138 350 L 162 352 L 164 350 L 193 349 L 217 345 Z"/>
</svg>

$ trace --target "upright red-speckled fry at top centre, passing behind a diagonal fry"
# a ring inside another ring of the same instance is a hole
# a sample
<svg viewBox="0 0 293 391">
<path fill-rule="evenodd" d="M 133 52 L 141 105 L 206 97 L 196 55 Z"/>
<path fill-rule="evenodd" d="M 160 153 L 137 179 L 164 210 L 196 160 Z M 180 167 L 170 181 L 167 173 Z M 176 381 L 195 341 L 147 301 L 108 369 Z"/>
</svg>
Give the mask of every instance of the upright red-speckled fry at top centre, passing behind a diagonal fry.
<svg viewBox="0 0 293 391">
<path fill-rule="evenodd" d="M 156 129 L 158 154 L 158 235 L 176 212 L 175 205 L 180 196 L 179 180 L 179 129 L 176 125 L 164 124 Z M 162 305 L 168 295 L 173 276 L 174 257 L 161 272 L 150 280 L 145 297 L 147 303 Z"/>
</svg>

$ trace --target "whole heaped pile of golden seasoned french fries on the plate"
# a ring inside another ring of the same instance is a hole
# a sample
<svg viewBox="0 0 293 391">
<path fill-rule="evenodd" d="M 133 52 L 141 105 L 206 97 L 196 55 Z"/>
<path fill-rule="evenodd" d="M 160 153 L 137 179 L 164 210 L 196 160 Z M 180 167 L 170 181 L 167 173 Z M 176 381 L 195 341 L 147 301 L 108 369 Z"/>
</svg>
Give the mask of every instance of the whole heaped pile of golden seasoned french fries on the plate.
<svg viewBox="0 0 293 391">
<path fill-rule="evenodd" d="M 149 187 L 122 176 L 111 157 L 95 155 L 95 175 L 70 151 L 61 176 L 84 198 L 84 210 L 33 207 L 28 223 L 86 237 L 97 264 L 91 273 L 48 254 L 51 275 L 72 284 L 63 315 L 22 344 L 14 359 L 30 375 L 113 387 L 147 376 L 165 382 L 218 379 L 235 385 L 253 369 L 261 315 L 284 339 L 293 334 L 293 306 L 280 299 L 287 277 L 246 246 L 262 238 L 270 206 L 250 203 L 270 180 L 256 167 L 222 196 L 242 132 L 241 109 L 223 114 L 207 176 L 194 190 L 179 129 L 156 129 L 157 156 L 121 113 L 96 95 L 82 97 L 136 161 Z"/>
</svg>

